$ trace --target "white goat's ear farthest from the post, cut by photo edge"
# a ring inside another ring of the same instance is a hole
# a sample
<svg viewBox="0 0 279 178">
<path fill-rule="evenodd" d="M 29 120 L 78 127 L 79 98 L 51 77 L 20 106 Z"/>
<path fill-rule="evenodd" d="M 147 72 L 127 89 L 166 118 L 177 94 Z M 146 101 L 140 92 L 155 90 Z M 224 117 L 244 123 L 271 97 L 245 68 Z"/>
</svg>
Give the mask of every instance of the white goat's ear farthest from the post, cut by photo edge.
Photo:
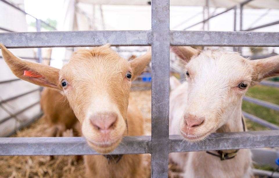
<svg viewBox="0 0 279 178">
<path fill-rule="evenodd" d="M 251 60 L 253 66 L 253 81 L 279 76 L 279 55 L 269 58 Z"/>
</svg>

